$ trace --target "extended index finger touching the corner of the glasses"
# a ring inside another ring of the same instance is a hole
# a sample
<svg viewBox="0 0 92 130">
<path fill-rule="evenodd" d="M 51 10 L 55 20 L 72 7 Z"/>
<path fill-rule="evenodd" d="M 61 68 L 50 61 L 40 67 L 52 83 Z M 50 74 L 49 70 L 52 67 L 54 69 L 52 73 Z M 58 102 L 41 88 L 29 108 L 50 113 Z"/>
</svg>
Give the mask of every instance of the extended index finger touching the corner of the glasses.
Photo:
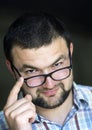
<svg viewBox="0 0 92 130">
<path fill-rule="evenodd" d="M 10 91 L 6 106 L 12 105 L 18 98 L 18 93 L 23 85 L 24 79 L 20 77 L 19 80 L 14 85 L 13 89 Z"/>
</svg>

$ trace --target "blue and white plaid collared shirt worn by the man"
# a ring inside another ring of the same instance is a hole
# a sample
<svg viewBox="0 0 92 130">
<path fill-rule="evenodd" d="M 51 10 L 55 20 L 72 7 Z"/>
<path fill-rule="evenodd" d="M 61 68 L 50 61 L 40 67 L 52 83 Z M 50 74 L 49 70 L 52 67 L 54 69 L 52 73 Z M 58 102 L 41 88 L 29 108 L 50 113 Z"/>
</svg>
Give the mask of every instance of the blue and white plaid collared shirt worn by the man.
<svg viewBox="0 0 92 130">
<path fill-rule="evenodd" d="M 74 104 L 63 125 L 37 115 L 33 130 L 92 130 L 92 87 L 73 84 Z M 61 113 L 62 114 L 62 113 Z M 9 130 L 0 112 L 0 130 Z"/>
</svg>

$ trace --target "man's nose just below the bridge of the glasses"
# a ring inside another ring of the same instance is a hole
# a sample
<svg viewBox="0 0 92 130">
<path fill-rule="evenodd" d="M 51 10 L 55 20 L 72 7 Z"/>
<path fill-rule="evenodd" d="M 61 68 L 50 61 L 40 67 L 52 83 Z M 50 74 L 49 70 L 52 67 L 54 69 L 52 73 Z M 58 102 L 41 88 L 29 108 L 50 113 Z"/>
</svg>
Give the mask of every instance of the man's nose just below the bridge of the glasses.
<svg viewBox="0 0 92 130">
<path fill-rule="evenodd" d="M 43 87 L 51 89 L 56 85 L 56 82 L 57 81 L 54 81 L 51 77 L 46 77 L 46 81 L 43 84 Z"/>
</svg>

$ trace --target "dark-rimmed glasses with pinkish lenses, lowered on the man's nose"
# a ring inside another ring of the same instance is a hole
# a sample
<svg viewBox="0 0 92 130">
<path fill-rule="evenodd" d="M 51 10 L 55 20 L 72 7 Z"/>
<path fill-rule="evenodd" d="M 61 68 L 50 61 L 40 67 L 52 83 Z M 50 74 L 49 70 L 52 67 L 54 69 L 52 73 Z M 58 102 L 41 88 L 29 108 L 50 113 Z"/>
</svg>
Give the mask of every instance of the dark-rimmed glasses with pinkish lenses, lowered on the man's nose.
<svg viewBox="0 0 92 130">
<path fill-rule="evenodd" d="M 21 77 L 22 75 L 20 74 L 18 69 L 13 64 L 11 64 L 11 66 L 13 71 L 15 70 L 17 74 Z M 24 82 L 28 87 L 34 88 L 43 85 L 46 82 L 47 77 L 52 78 L 54 81 L 64 80 L 70 76 L 71 69 L 72 69 L 72 62 L 70 57 L 70 66 L 66 66 L 64 68 L 54 70 L 53 72 L 50 72 L 48 74 L 41 74 L 41 75 L 24 78 Z"/>
</svg>

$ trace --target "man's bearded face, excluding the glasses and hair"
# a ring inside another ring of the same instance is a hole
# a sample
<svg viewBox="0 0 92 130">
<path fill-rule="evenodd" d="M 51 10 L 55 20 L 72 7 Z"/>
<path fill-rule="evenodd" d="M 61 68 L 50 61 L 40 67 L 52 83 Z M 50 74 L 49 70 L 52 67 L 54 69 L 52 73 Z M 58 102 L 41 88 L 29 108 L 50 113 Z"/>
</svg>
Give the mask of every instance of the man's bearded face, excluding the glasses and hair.
<svg viewBox="0 0 92 130">
<path fill-rule="evenodd" d="M 72 46 L 70 53 L 72 55 Z M 70 65 L 69 50 L 63 38 L 57 38 L 50 45 L 38 49 L 21 49 L 18 46 L 12 50 L 13 64 L 24 77 L 48 74 L 54 70 Z M 18 77 L 16 73 L 16 77 Z M 33 103 L 43 108 L 60 106 L 68 97 L 72 88 L 72 71 L 68 78 L 55 81 L 51 77 L 38 87 L 29 88 L 23 84 L 23 93 L 31 94 Z"/>
</svg>

